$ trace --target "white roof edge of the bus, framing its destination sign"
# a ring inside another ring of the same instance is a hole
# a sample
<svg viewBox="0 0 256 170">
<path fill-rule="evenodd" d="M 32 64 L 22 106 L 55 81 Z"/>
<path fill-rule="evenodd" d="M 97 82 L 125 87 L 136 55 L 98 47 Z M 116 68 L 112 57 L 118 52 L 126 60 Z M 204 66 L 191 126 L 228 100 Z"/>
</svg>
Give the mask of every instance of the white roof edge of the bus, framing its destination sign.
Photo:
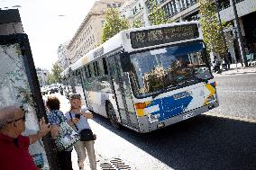
<svg viewBox="0 0 256 170">
<path fill-rule="evenodd" d="M 154 29 L 159 29 L 159 28 L 171 27 L 171 26 L 176 26 L 176 25 L 184 25 L 184 24 L 193 24 L 193 23 L 196 23 L 198 25 L 199 22 L 197 22 L 197 21 L 173 22 L 173 23 L 152 25 L 152 26 L 147 26 L 147 27 L 134 28 L 134 29 L 120 31 L 119 33 L 114 35 L 114 37 L 112 37 L 109 40 L 106 40 L 105 43 L 103 43 L 99 47 L 96 47 L 96 49 L 92 49 L 89 52 L 87 52 L 87 54 L 85 54 L 82 58 L 79 58 L 77 62 L 75 62 L 73 65 L 71 65 L 70 68 L 72 70 L 76 70 L 79 67 L 82 67 L 85 64 L 93 61 L 94 59 L 96 59 L 96 58 L 98 58 L 102 55 L 110 53 L 114 49 L 124 49 L 124 51 L 133 52 L 133 51 L 136 51 L 136 50 L 150 49 L 151 48 L 151 46 L 149 46 L 149 47 L 144 47 L 144 48 L 133 49 L 132 46 L 131 46 L 130 32 L 154 30 Z M 200 35 L 196 40 L 202 40 L 203 39 L 203 35 L 200 33 L 200 31 L 199 31 L 199 34 Z M 184 41 L 189 41 L 189 40 L 183 40 L 183 41 L 180 40 L 179 42 L 184 42 Z M 173 44 L 173 43 L 177 43 L 177 41 L 172 42 L 172 43 L 170 42 L 170 43 L 163 43 L 163 44 L 155 45 L 154 47 L 163 46 L 163 45 L 166 45 L 166 44 Z M 66 74 L 69 72 L 69 70 L 67 70 L 67 69 L 68 68 L 66 68 L 64 70 L 64 71 L 66 71 L 65 72 Z M 66 75 L 66 74 L 64 74 L 64 75 Z"/>
</svg>

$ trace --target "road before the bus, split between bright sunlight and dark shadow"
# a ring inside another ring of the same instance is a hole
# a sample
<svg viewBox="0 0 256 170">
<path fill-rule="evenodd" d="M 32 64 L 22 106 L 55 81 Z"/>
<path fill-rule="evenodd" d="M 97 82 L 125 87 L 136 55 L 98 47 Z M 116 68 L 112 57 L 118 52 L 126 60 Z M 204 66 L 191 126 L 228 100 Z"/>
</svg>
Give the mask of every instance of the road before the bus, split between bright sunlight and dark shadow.
<svg viewBox="0 0 256 170">
<path fill-rule="evenodd" d="M 114 157 L 140 170 L 256 169 L 255 123 L 202 115 L 147 134 L 91 122 L 98 164 Z"/>
</svg>

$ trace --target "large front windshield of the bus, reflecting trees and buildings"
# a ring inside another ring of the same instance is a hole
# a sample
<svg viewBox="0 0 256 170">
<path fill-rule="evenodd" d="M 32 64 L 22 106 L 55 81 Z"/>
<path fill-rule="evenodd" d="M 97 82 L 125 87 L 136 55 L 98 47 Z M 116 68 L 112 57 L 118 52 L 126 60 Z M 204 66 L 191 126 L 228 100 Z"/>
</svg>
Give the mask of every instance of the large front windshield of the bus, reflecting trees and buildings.
<svg viewBox="0 0 256 170">
<path fill-rule="evenodd" d="M 212 78 L 202 50 L 203 43 L 195 42 L 131 54 L 134 94 L 160 94 Z"/>
</svg>

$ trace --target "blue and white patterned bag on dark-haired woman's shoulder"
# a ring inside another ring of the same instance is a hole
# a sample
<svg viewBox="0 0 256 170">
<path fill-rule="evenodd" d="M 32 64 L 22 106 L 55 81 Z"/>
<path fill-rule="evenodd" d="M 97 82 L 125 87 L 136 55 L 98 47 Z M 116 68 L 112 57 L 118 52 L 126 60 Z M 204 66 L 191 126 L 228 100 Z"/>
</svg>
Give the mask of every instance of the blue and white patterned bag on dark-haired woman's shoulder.
<svg viewBox="0 0 256 170">
<path fill-rule="evenodd" d="M 59 118 L 60 124 L 55 143 L 58 150 L 61 151 L 73 146 L 80 139 L 80 137 L 76 130 L 73 130 L 73 128 L 71 128 L 66 121 L 62 121 L 57 113 L 56 115 Z"/>
</svg>

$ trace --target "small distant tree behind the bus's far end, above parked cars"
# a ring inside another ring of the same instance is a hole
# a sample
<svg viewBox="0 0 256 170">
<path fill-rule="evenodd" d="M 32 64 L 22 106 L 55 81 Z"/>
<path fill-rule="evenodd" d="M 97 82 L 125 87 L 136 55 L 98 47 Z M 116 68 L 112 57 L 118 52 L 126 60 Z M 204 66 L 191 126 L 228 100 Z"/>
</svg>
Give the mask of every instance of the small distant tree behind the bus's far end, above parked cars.
<svg viewBox="0 0 256 170">
<path fill-rule="evenodd" d="M 62 72 L 62 68 L 56 62 L 51 68 L 50 74 L 47 76 L 48 85 L 61 83 L 60 73 Z"/>
</svg>

